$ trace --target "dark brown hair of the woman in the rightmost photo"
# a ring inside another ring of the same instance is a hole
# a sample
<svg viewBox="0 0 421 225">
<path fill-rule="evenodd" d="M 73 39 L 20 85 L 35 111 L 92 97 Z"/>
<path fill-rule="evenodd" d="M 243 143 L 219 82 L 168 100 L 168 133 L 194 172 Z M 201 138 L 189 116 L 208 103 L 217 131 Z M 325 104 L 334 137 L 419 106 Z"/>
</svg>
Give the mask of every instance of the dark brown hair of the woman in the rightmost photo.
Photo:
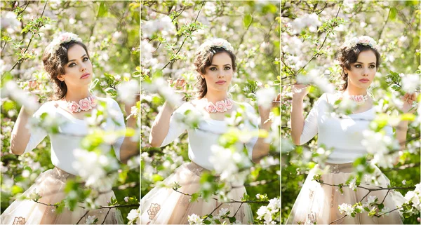
<svg viewBox="0 0 421 225">
<path fill-rule="evenodd" d="M 340 87 L 340 90 L 346 90 L 348 87 L 348 74 L 345 74 L 345 68 L 351 69 L 351 64 L 356 62 L 358 60 L 358 56 L 360 53 L 366 50 L 372 50 L 375 55 L 375 68 L 379 69 L 380 66 L 380 53 L 375 49 L 371 48 L 370 46 L 364 46 L 361 44 L 357 44 L 356 46 L 352 48 L 345 48 L 341 49 L 337 53 L 337 60 L 339 61 L 340 67 L 342 67 L 342 72 L 340 74 L 340 77 L 342 81 L 345 81 L 345 83 Z"/>
</svg>

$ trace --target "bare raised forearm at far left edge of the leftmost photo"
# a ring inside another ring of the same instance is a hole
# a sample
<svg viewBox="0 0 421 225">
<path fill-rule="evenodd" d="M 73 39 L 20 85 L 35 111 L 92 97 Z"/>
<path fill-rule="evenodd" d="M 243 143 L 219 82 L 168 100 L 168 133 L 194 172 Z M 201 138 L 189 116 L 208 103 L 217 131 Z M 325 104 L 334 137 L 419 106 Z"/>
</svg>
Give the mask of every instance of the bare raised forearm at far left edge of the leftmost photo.
<svg viewBox="0 0 421 225">
<path fill-rule="evenodd" d="M 13 130 L 11 133 L 11 151 L 15 155 L 21 155 L 26 149 L 26 146 L 31 137 L 29 129 L 27 129 L 27 123 L 29 117 L 32 114 L 25 109 L 25 106 L 22 105 L 18 118 L 16 119 L 15 125 L 13 125 Z"/>
</svg>

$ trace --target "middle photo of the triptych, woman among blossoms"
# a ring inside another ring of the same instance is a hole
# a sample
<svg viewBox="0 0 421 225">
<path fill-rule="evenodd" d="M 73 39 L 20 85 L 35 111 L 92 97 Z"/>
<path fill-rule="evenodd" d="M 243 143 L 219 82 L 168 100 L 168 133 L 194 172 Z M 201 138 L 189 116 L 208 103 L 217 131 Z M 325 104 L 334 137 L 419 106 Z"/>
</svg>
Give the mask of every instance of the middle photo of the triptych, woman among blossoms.
<svg viewBox="0 0 421 225">
<path fill-rule="evenodd" d="M 140 224 L 279 224 L 279 1 L 141 7 Z"/>
</svg>

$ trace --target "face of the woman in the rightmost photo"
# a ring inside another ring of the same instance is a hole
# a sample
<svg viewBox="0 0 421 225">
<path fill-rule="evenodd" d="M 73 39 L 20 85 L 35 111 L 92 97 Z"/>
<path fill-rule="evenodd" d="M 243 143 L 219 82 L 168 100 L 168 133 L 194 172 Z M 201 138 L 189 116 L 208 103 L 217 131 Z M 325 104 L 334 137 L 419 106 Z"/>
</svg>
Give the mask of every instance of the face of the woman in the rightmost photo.
<svg viewBox="0 0 421 225">
<path fill-rule="evenodd" d="M 351 68 L 344 68 L 345 74 L 348 74 L 348 87 L 367 89 L 373 83 L 377 71 L 375 62 L 376 57 L 372 50 L 359 53 L 356 62 L 350 64 Z"/>
</svg>

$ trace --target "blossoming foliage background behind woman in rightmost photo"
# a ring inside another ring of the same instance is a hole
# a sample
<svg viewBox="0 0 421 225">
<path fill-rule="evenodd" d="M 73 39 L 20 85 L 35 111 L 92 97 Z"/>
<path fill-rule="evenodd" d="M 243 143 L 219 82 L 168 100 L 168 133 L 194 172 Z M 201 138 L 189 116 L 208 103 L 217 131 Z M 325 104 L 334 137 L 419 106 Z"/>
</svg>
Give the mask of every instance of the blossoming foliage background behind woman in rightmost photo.
<svg viewBox="0 0 421 225">
<path fill-rule="evenodd" d="M 304 147 L 293 146 L 291 142 L 291 88 L 296 82 L 295 74 L 309 76 L 309 71 L 315 69 L 315 79 L 330 81 L 338 89 L 340 67 L 334 62 L 336 50 L 353 36 L 371 36 L 380 44 L 382 55 L 372 93 L 377 100 L 389 100 L 390 106 L 390 99 L 395 96 L 387 82 L 390 71 L 419 76 L 420 1 L 281 1 L 281 9 L 281 221 L 285 222 L 309 169 L 314 167 L 311 156 L 316 150 L 317 141 L 314 138 Z M 314 15 L 309 16 L 312 13 Z M 309 112 L 319 96 L 326 92 L 323 88 L 326 87 L 312 86 L 305 98 L 305 112 Z M 387 114 L 394 112 L 396 110 L 389 110 Z M 392 186 L 394 183 L 402 185 L 404 179 L 413 184 L 420 182 L 419 123 L 410 123 L 408 139 L 413 140 L 407 143 L 401 163 L 393 169 L 382 168 L 392 181 Z M 399 168 L 402 165 L 409 165 L 409 168 Z M 402 190 L 401 193 L 405 195 L 406 191 Z M 406 219 L 404 224 L 417 224 L 416 217 Z"/>
</svg>

